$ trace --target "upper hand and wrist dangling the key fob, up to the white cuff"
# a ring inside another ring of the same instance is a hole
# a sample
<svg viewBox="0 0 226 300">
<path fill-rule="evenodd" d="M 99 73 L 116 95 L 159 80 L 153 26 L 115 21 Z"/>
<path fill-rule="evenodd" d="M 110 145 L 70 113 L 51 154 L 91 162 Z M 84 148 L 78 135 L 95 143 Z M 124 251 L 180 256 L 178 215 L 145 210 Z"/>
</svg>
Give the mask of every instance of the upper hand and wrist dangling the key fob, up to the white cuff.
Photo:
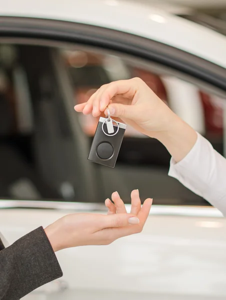
<svg viewBox="0 0 226 300">
<path fill-rule="evenodd" d="M 157 138 L 175 161 L 180 161 L 194 145 L 197 134 L 180 119 L 140 78 L 102 85 L 87 102 L 74 106 L 84 114 L 106 114 L 121 118 L 137 131 Z"/>
</svg>

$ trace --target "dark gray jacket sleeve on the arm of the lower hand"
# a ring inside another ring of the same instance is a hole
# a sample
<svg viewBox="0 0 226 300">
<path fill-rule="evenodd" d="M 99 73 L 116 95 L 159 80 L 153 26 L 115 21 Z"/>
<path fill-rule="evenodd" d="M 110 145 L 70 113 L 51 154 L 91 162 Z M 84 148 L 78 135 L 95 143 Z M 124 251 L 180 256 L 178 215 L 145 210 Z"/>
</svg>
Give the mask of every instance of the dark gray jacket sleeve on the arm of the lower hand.
<svg viewBox="0 0 226 300">
<path fill-rule="evenodd" d="M 0 251 L 0 300 L 18 300 L 61 276 L 62 270 L 42 227 Z"/>
</svg>

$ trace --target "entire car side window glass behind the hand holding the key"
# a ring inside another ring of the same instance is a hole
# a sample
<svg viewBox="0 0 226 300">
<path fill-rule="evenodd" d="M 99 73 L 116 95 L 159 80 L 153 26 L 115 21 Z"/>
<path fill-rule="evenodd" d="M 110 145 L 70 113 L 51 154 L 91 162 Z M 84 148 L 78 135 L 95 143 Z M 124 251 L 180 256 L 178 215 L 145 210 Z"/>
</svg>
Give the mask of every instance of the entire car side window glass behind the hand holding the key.
<svg viewBox="0 0 226 300">
<path fill-rule="evenodd" d="M 98 118 L 73 104 L 134 76 L 224 153 L 224 99 L 193 83 L 103 50 L 0 44 L 0 198 L 103 202 L 117 190 L 129 203 L 139 188 L 155 204 L 207 205 L 167 175 L 164 146 L 130 126 L 114 168 L 87 161 Z"/>
</svg>

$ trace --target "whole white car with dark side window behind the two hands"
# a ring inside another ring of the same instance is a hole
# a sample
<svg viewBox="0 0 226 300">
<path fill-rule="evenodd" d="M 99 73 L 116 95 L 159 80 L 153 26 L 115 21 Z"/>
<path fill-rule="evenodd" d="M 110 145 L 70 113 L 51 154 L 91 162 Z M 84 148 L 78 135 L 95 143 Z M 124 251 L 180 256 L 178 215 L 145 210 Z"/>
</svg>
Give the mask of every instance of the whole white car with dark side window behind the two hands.
<svg viewBox="0 0 226 300">
<path fill-rule="evenodd" d="M 142 233 L 56 253 L 63 277 L 27 300 L 225 299 L 226 221 L 168 177 L 170 156 L 128 127 L 115 168 L 87 161 L 97 119 L 73 110 L 141 77 L 225 153 L 226 37 L 116 0 L 0 3 L 0 231 L 9 243 L 117 190 L 153 197 Z"/>
</svg>

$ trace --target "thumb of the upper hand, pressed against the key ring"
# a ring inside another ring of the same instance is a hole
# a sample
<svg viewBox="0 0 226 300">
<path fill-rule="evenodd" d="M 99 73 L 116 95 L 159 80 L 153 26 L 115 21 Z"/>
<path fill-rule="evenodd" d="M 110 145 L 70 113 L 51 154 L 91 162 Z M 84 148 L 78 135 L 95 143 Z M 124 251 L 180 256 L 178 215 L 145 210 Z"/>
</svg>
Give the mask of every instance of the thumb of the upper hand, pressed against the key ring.
<svg viewBox="0 0 226 300">
<path fill-rule="evenodd" d="M 135 109 L 133 105 L 125 105 L 121 103 L 112 103 L 108 105 L 110 115 L 133 119 L 135 117 Z M 104 111 L 107 115 L 107 110 Z"/>
</svg>

